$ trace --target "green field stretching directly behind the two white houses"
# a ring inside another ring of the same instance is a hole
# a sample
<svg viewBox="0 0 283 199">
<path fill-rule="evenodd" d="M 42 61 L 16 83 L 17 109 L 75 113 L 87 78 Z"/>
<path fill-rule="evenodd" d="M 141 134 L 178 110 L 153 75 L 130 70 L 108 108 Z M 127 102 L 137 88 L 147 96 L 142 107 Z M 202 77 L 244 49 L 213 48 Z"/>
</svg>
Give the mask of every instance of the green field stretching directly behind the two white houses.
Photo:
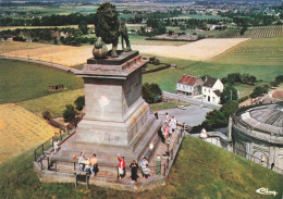
<svg viewBox="0 0 283 199">
<path fill-rule="evenodd" d="M 246 64 L 225 64 L 212 62 L 196 62 L 181 59 L 170 59 L 158 57 L 161 62 L 177 64 L 177 70 L 167 69 L 156 73 L 148 73 L 143 75 L 144 83 L 157 83 L 162 90 L 173 92 L 176 88 L 176 82 L 183 74 L 192 74 L 195 76 L 210 75 L 222 78 L 229 73 L 248 73 L 255 75 L 257 79 L 262 79 L 268 83 L 274 79 L 279 74 L 283 74 L 282 64 L 272 65 L 246 65 Z M 237 85 L 239 94 L 250 94 L 253 86 Z M 243 97 L 243 96 L 242 96 Z"/>
</svg>

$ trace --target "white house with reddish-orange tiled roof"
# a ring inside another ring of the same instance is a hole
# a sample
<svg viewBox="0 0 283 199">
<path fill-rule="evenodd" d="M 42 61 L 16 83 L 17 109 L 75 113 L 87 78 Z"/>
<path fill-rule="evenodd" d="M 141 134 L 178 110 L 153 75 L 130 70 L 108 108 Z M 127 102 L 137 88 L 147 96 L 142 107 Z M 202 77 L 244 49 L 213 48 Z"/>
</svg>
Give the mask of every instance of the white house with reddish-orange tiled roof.
<svg viewBox="0 0 283 199">
<path fill-rule="evenodd" d="M 202 85 L 204 80 L 200 77 L 183 75 L 177 82 L 176 90 L 186 96 L 198 96 Z"/>
</svg>

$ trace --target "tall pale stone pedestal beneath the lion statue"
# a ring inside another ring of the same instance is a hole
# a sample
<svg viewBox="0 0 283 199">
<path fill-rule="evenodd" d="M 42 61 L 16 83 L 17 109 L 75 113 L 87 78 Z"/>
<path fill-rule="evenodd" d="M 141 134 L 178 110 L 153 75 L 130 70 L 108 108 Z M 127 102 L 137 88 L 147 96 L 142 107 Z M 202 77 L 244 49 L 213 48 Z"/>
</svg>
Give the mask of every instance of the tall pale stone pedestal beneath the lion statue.
<svg viewBox="0 0 283 199">
<path fill-rule="evenodd" d="M 146 63 L 137 51 L 87 60 L 76 73 L 84 78 L 86 114 L 53 160 L 72 161 L 73 154 L 85 150 L 87 157 L 96 153 L 104 165 L 116 165 L 116 153 L 130 163 L 146 152 L 161 126 L 142 97 Z"/>
</svg>

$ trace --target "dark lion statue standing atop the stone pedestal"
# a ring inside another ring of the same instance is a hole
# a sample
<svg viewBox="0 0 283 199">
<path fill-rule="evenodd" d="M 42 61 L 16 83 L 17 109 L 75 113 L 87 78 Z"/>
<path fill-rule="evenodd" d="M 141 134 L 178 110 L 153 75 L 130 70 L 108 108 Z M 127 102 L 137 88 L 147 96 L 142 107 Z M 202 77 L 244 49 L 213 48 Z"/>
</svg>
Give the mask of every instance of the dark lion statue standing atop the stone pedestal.
<svg viewBox="0 0 283 199">
<path fill-rule="evenodd" d="M 119 14 L 115 10 L 115 5 L 110 2 L 104 2 L 97 9 L 96 15 L 96 36 L 101 37 L 106 43 L 112 43 L 111 57 L 118 57 L 116 48 L 120 35 L 122 36 L 123 51 L 132 51 L 126 25 L 123 21 L 118 18 Z M 124 40 L 126 42 L 126 48 L 124 47 Z"/>
</svg>

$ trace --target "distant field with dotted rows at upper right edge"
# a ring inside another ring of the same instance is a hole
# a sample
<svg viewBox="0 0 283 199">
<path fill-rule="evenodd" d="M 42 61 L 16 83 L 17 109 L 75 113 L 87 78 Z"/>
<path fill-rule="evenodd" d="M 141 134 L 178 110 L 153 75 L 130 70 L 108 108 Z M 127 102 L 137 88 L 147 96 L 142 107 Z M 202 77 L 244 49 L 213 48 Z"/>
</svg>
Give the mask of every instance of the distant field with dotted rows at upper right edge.
<svg viewBox="0 0 283 199">
<path fill-rule="evenodd" d="M 231 36 L 231 38 L 269 38 L 283 37 L 283 25 L 249 27 L 244 35 Z"/>
</svg>

